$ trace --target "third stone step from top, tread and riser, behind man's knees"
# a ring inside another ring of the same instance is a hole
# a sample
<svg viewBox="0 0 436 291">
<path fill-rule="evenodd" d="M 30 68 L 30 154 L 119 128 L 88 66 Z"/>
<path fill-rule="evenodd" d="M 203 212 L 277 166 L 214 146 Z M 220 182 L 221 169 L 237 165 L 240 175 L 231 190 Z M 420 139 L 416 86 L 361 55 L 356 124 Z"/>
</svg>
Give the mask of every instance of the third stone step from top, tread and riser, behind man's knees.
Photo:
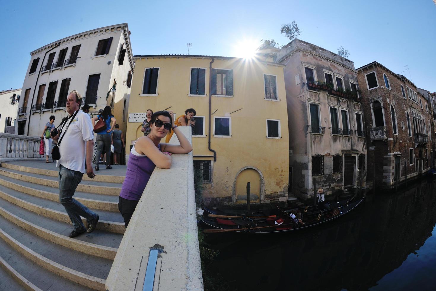
<svg viewBox="0 0 436 291">
<path fill-rule="evenodd" d="M 0 178 L 0 185 L 25 194 L 59 202 L 59 190 L 56 191 L 56 188 L 5 177 Z M 86 207 L 92 209 L 118 212 L 117 196 L 75 192 L 74 198 Z"/>
</svg>

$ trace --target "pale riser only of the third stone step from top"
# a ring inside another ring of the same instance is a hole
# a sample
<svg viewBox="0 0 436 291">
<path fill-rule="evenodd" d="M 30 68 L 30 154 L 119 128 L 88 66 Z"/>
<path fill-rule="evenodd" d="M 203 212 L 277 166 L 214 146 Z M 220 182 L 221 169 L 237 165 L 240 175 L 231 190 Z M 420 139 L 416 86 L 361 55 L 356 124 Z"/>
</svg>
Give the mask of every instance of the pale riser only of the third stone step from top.
<svg viewBox="0 0 436 291">
<path fill-rule="evenodd" d="M 54 202 L 59 202 L 59 195 L 51 192 L 41 191 L 37 189 L 33 189 L 27 186 L 19 185 L 14 182 L 6 181 L 2 178 L 0 178 L 0 185 L 3 185 L 7 188 L 14 189 L 16 191 L 22 192 L 24 194 L 32 195 L 35 197 L 51 200 Z M 113 211 L 118 212 L 118 203 L 116 202 L 109 202 L 109 201 L 101 201 L 101 200 L 94 200 L 94 199 L 88 199 L 88 198 L 82 198 L 82 197 L 75 197 L 78 202 L 82 203 L 83 205 L 92 208 L 92 209 L 100 209 L 100 210 L 107 210 L 107 211 Z"/>
</svg>

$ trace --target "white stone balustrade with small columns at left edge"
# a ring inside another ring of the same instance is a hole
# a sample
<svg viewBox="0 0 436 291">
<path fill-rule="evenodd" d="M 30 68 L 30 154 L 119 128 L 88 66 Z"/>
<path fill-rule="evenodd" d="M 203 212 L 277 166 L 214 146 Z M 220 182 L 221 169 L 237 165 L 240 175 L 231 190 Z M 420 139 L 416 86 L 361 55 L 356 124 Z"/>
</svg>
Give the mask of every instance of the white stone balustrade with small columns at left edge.
<svg viewBox="0 0 436 291">
<path fill-rule="evenodd" d="M 37 137 L 0 133 L 0 162 L 45 159 L 39 154 Z"/>
</svg>

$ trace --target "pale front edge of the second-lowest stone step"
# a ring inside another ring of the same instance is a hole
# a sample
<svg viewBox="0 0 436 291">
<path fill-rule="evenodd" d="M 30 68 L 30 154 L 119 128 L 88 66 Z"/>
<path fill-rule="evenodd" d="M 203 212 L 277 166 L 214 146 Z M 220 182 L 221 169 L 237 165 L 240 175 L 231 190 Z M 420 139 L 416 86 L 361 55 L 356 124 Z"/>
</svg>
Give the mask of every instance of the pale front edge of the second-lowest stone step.
<svg viewBox="0 0 436 291">
<path fill-rule="evenodd" d="M 0 228 L 0 237 L 12 246 L 15 250 L 21 253 L 27 259 L 33 261 L 34 263 L 40 265 L 44 269 L 57 274 L 65 279 L 73 281 L 75 283 L 81 284 L 82 286 L 92 288 L 94 290 L 105 291 L 105 279 L 90 276 L 79 271 L 70 269 L 68 267 L 62 266 L 48 258 L 41 256 L 39 253 L 34 252 L 27 246 L 15 240 L 12 236 L 8 235 L 3 229 Z"/>
</svg>

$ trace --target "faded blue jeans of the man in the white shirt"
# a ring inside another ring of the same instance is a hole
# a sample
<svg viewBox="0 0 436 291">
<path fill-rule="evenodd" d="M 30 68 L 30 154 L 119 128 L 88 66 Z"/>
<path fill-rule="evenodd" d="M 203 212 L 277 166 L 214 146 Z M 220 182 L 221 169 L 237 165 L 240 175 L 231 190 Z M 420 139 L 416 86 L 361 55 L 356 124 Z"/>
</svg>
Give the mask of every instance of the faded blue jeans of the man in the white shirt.
<svg viewBox="0 0 436 291">
<path fill-rule="evenodd" d="M 82 230 L 85 226 L 80 216 L 89 223 L 97 214 L 73 198 L 77 185 L 82 181 L 83 173 L 73 171 L 59 165 L 59 201 L 64 205 L 75 229 Z"/>
</svg>

